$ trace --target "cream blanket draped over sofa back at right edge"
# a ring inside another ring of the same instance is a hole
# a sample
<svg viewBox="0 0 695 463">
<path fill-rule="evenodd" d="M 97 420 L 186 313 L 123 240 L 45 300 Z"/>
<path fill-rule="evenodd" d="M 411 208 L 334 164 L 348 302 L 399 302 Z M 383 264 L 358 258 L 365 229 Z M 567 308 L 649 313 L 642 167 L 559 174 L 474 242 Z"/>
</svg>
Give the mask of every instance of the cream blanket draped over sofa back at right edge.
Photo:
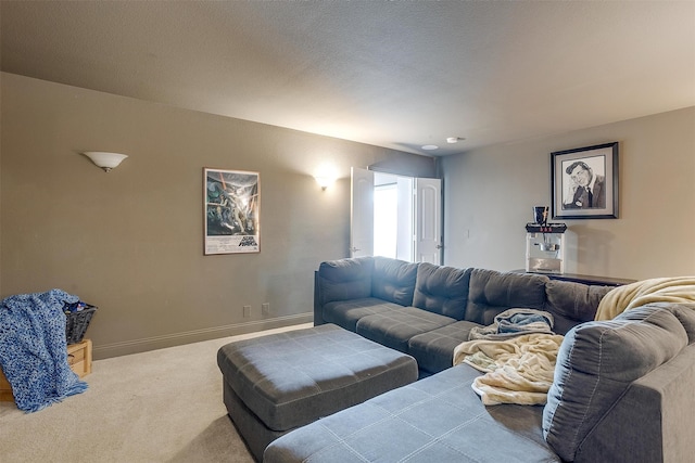
<svg viewBox="0 0 695 463">
<path fill-rule="evenodd" d="M 695 303 L 695 276 L 659 278 L 618 286 L 601 299 L 595 319 L 612 320 L 648 303 Z"/>
</svg>

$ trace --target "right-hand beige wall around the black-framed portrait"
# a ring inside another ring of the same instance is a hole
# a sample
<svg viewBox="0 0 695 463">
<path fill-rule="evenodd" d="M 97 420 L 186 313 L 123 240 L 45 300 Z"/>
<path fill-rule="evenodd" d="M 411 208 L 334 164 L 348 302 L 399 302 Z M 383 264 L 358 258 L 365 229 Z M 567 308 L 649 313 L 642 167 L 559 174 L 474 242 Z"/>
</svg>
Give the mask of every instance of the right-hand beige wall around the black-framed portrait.
<svg viewBox="0 0 695 463">
<path fill-rule="evenodd" d="M 642 280 L 695 275 L 695 107 L 444 158 L 445 262 L 525 268 L 531 207 L 549 205 L 549 153 L 618 141 L 619 218 L 556 220 L 576 271 Z"/>
</svg>

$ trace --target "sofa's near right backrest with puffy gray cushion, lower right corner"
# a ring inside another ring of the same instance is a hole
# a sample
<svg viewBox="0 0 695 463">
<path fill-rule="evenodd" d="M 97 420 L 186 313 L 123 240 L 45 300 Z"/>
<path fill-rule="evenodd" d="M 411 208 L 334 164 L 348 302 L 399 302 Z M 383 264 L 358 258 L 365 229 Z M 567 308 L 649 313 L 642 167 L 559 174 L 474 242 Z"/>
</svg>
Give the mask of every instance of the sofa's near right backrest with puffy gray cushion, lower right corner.
<svg viewBox="0 0 695 463">
<path fill-rule="evenodd" d="M 648 304 L 567 333 L 543 410 L 544 437 L 563 460 L 661 462 L 669 434 L 693 448 L 682 442 L 695 412 L 692 321 L 693 310 Z"/>
</svg>

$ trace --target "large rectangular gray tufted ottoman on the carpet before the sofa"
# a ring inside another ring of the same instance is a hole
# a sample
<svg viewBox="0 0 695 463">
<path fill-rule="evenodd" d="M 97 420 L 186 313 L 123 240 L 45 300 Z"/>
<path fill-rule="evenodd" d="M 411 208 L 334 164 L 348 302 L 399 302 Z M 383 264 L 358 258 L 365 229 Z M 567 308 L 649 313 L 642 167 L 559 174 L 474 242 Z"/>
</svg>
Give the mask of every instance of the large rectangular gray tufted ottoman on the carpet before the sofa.
<svg viewBox="0 0 695 463">
<path fill-rule="evenodd" d="M 224 402 L 257 461 L 273 440 L 417 380 L 410 356 L 333 324 L 223 346 Z"/>
</svg>

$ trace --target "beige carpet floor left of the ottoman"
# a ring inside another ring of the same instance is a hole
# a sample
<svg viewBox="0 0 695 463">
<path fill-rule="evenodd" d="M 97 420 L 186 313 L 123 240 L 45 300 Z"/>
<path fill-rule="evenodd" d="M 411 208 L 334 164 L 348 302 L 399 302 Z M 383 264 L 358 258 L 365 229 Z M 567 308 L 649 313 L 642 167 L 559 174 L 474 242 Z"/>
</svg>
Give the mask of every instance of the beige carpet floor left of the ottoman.
<svg viewBox="0 0 695 463">
<path fill-rule="evenodd" d="M 0 461 L 252 463 L 223 403 L 217 349 L 287 330 L 97 360 L 86 393 L 36 413 L 0 402 Z"/>
</svg>

